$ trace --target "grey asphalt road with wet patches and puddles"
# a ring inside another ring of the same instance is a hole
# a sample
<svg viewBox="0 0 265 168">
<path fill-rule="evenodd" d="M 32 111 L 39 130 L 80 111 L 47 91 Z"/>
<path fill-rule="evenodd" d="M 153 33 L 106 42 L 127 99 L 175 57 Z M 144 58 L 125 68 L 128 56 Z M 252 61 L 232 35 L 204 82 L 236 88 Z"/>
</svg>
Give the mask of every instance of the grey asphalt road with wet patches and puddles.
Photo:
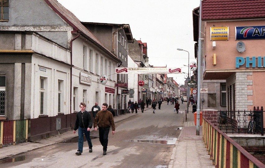
<svg viewBox="0 0 265 168">
<path fill-rule="evenodd" d="M 92 139 L 93 152 L 88 152 L 87 142 L 81 156 L 76 156 L 77 141 L 59 143 L 17 156 L 17 161 L 6 162 L 1 167 L 167 167 L 175 141 L 185 119 L 186 102 L 180 111 L 174 112 L 174 105 L 163 103 L 161 110 L 138 114 L 116 123 L 115 134 L 109 134 L 107 155 L 98 138 Z M 191 107 L 190 107 L 191 108 Z M 92 137 L 98 132 L 92 131 Z"/>
</svg>

